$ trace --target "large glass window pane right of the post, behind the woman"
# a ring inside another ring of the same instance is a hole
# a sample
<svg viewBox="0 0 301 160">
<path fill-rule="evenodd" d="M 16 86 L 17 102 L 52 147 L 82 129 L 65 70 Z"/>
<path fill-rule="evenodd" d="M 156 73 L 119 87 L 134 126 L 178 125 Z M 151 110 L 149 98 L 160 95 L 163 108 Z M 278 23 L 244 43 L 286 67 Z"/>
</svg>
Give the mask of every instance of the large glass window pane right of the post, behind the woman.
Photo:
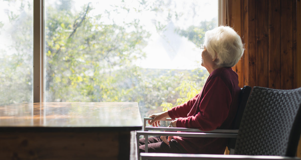
<svg viewBox="0 0 301 160">
<path fill-rule="evenodd" d="M 141 116 L 200 92 L 217 0 L 45 2 L 46 102 L 138 102 Z"/>
</svg>

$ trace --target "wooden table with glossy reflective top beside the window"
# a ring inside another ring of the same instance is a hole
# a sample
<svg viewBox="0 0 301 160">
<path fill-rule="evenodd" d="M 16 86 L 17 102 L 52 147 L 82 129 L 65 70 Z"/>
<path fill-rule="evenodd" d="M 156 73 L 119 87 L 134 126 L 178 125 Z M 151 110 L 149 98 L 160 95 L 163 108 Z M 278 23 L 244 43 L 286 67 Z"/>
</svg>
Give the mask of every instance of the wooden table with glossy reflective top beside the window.
<svg viewBox="0 0 301 160">
<path fill-rule="evenodd" d="M 137 102 L 0 106 L 0 159 L 129 159 Z"/>
</svg>

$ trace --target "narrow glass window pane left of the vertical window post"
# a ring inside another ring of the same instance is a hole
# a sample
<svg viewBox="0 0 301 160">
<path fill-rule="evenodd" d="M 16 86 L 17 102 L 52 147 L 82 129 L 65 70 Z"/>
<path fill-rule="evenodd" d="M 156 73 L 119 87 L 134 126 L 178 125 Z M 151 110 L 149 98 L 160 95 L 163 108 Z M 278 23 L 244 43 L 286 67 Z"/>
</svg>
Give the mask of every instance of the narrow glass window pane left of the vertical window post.
<svg viewBox="0 0 301 160">
<path fill-rule="evenodd" d="M 0 1 L 0 105 L 33 102 L 33 1 Z"/>
</svg>

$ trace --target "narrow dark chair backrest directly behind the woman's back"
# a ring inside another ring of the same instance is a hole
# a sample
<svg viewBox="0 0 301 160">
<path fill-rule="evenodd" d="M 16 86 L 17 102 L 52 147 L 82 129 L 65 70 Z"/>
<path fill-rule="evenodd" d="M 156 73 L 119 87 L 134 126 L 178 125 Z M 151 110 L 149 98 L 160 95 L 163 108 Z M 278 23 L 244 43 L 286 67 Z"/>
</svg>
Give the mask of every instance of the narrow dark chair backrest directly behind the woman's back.
<svg viewBox="0 0 301 160">
<path fill-rule="evenodd" d="M 238 129 L 239 128 L 240 121 L 241 121 L 241 118 L 243 116 L 244 109 L 246 107 L 246 104 L 247 104 L 248 98 L 250 96 L 251 90 L 252 90 L 252 87 L 250 87 L 250 86 L 244 86 L 241 89 L 241 92 L 240 92 L 240 95 L 239 95 L 240 103 L 239 103 L 238 108 L 237 108 L 237 113 L 236 113 L 236 116 L 234 118 L 234 122 L 233 122 L 234 125 L 233 125 L 232 129 Z M 235 142 L 236 142 L 236 138 L 229 139 L 228 144 L 227 144 L 228 149 L 234 149 L 235 148 Z"/>
</svg>

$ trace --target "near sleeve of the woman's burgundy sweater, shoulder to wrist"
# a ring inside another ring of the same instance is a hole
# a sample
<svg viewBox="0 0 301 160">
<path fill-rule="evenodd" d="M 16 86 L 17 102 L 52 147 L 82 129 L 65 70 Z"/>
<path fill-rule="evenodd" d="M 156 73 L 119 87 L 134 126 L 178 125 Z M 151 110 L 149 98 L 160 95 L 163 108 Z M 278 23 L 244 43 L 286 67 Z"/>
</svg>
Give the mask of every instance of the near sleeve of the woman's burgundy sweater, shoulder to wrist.
<svg viewBox="0 0 301 160">
<path fill-rule="evenodd" d="M 228 117 L 232 99 L 231 93 L 220 77 L 211 79 L 204 90 L 199 112 L 186 118 L 178 118 L 177 127 L 214 130 Z"/>
</svg>

